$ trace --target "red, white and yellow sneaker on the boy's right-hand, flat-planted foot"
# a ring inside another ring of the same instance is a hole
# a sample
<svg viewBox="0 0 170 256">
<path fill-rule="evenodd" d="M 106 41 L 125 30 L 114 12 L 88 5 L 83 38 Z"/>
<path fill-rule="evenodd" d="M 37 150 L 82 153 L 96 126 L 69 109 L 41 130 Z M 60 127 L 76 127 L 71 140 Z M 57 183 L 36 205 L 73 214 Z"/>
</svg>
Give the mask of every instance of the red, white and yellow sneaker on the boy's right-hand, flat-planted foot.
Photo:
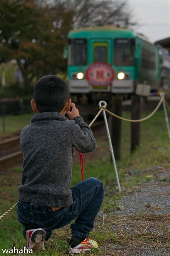
<svg viewBox="0 0 170 256">
<path fill-rule="evenodd" d="M 93 248 L 98 248 L 98 243 L 89 238 L 85 238 L 81 243 L 79 243 L 75 247 L 72 247 L 72 248 L 70 247 L 73 253 L 86 252 L 86 251 L 90 251 Z"/>
</svg>

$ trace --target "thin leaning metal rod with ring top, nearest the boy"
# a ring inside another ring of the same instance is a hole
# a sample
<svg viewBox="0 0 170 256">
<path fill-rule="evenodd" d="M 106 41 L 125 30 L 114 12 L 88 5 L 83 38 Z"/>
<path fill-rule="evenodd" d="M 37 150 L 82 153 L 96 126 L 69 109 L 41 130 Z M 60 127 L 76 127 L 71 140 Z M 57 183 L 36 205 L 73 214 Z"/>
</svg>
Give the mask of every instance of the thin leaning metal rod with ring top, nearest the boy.
<svg viewBox="0 0 170 256">
<path fill-rule="evenodd" d="M 104 107 L 107 106 L 107 103 L 106 103 L 104 100 L 101 100 L 101 101 L 99 102 L 99 107 L 101 107 L 102 104 L 103 104 Z M 115 162 L 115 158 L 114 158 L 112 140 L 111 140 L 111 138 L 110 138 L 109 126 L 108 126 L 108 121 L 107 121 L 107 117 L 106 117 L 106 113 L 105 113 L 104 108 L 103 108 L 103 117 L 104 117 L 104 122 L 105 122 L 106 130 L 107 130 L 107 134 L 108 134 L 108 139 L 109 139 L 109 144 L 110 144 L 110 152 L 111 152 L 111 155 L 112 155 L 112 161 L 113 161 L 114 171 L 115 171 L 115 175 L 116 175 L 118 190 L 119 190 L 119 192 L 121 193 L 121 186 L 120 186 L 120 183 L 119 183 L 119 177 L 118 177 L 116 162 Z"/>
</svg>

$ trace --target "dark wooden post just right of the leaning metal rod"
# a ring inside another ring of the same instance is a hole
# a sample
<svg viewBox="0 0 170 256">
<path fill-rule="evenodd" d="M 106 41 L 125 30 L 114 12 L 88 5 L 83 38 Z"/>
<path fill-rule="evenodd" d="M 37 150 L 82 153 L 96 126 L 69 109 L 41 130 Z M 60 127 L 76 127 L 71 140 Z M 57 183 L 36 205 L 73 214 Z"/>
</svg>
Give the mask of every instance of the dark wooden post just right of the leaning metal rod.
<svg viewBox="0 0 170 256">
<path fill-rule="evenodd" d="M 118 116 L 122 116 L 122 96 L 114 95 L 112 96 L 112 107 L 110 109 L 111 112 L 117 114 Z M 121 158 L 121 120 L 115 118 L 113 116 L 110 117 L 110 133 L 112 138 L 112 145 L 115 159 Z"/>
</svg>

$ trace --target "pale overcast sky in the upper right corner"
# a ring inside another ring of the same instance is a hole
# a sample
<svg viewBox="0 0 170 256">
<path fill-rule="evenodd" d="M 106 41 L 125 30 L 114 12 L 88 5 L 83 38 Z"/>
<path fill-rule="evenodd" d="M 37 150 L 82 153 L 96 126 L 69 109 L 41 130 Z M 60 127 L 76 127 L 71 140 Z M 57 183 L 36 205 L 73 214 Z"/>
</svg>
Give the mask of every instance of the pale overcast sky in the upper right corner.
<svg viewBox="0 0 170 256">
<path fill-rule="evenodd" d="M 134 31 L 143 33 L 151 42 L 170 37 L 169 0 L 128 0 L 128 3 L 139 24 Z"/>
</svg>

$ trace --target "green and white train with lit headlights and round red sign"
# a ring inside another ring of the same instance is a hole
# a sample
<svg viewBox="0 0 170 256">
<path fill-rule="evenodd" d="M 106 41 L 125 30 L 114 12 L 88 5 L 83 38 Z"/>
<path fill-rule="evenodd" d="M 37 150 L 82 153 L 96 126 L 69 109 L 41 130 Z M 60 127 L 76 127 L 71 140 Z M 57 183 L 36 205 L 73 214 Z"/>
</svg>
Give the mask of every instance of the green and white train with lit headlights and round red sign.
<svg viewBox="0 0 170 256">
<path fill-rule="evenodd" d="M 68 56 L 71 94 L 133 94 L 137 84 L 151 85 L 152 91 L 159 90 L 159 49 L 145 36 L 125 28 L 104 26 L 71 30 L 68 39 L 64 55 Z M 105 73 L 99 72 L 103 64 L 107 64 Z M 99 80 L 103 74 L 112 76 L 108 68 L 112 68 L 114 77 L 102 84 Z M 95 72 L 99 79 L 93 83 L 89 76 L 94 78 Z"/>
</svg>

